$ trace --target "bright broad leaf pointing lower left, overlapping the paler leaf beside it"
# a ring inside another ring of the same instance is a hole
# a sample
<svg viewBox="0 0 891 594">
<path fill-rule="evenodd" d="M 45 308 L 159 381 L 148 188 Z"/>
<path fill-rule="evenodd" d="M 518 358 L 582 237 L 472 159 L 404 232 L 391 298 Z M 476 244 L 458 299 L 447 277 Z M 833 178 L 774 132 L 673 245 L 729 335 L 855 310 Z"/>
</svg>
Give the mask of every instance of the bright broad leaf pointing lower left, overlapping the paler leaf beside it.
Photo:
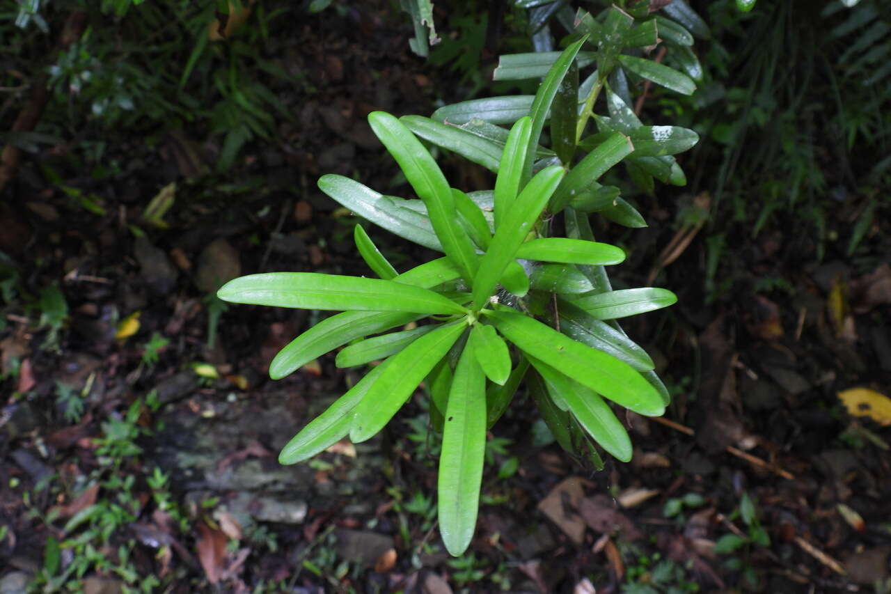
<svg viewBox="0 0 891 594">
<path fill-rule="evenodd" d="M 356 407 L 349 438 L 354 443 L 368 440 L 387 425 L 466 327 L 463 323 L 440 326 L 388 359 L 393 364 L 384 370 Z"/>
</svg>

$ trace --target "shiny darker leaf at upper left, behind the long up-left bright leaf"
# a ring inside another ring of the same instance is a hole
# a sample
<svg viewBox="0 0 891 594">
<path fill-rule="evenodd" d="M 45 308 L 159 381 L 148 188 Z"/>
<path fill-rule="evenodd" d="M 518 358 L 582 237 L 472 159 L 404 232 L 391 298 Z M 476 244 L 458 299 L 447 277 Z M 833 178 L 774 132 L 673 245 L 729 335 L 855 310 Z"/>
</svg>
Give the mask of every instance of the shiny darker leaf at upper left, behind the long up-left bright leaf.
<svg viewBox="0 0 891 594">
<path fill-rule="evenodd" d="M 320 177 L 318 186 L 325 194 L 378 227 L 431 250 L 443 251 L 442 244 L 425 216 L 426 207 L 415 209 L 409 206 L 412 202 L 419 202 L 422 206 L 420 200 L 385 196 L 349 177 L 331 174 Z"/>
</svg>

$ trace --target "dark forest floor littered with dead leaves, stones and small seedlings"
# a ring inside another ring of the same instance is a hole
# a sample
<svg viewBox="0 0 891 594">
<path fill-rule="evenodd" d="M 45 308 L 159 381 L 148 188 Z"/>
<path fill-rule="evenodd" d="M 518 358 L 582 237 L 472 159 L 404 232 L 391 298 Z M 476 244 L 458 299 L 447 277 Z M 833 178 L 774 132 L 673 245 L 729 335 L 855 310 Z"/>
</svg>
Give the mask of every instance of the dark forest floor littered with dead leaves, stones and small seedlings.
<svg viewBox="0 0 891 594">
<path fill-rule="evenodd" d="M 756 238 L 728 224 L 729 276 L 710 293 L 715 225 L 674 222 L 695 203 L 683 189 L 641 198 L 646 229 L 599 223 L 631 253 L 620 283 L 679 296 L 627 328 L 673 403 L 625 417 L 634 459 L 595 472 L 521 394 L 492 430 L 463 557 L 437 535 L 420 392 L 374 440 L 279 466 L 356 371 L 328 355 L 270 380 L 275 352 L 320 314 L 213 293 L 255 272 L 369 274 L 357 219 L 315 179 L 405 194 L 364 117 L 429 114 L 444 87 L 404 27 L 307 24 L 299 37 L 287 66 L 315 91 L 236 173 L 201 175 L 208 145 L 186 130 L 112 146 L 119 175 L 47 152 L 59 179 L 29 161 L 7 188 L 0 592 L 891 591 L 891 240 L 878 223 L 855 257 L 839 240 L 822 258 L 781 217 Z M 491 181 L 443 162 L 465 190 Z M 174 206 L 152 227 L 144 207 L 162 188 Z M 849 204 L 828 205 L 850 219 Z M 368 230 L 397 268 L 432 254 Z"/>
</svg>

